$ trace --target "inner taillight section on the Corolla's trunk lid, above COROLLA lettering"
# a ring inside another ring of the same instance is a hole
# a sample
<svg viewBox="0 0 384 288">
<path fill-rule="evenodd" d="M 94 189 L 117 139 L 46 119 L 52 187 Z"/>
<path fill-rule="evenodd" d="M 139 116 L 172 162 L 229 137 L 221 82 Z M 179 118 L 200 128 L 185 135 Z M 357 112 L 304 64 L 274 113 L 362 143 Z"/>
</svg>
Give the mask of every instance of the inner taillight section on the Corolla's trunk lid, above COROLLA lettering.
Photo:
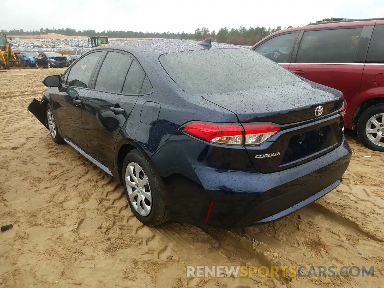
<svg viewBox="0 0 384 288">
<path fill-rule="evenodd" d="M 260 145 L 280 130 L 273 124 L 247 124 L 243 123 L 245 130 L 245 145 Z"/>
</svg>

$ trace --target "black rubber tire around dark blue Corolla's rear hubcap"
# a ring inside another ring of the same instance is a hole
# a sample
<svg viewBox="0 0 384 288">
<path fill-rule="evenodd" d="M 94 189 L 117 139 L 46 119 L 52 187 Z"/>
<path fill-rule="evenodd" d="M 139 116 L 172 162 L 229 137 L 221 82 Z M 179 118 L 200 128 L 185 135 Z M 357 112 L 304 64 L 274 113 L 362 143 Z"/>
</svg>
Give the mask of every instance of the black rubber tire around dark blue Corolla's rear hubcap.
<svg viewBox="0 0 384 288">
<path fill-rule="evenodd" d="M 151 210 L 146 216 L 139 214 L 131 203 L 131 200 L 129 200 L 125 173 L 128 164 L 131 162 L 139 164 L 148 179 L 148 185 L 150 187 L 152 196 L 152 203 Z M 136 216 L 137 219 L 139 219 L 140 222 L 145 225 L 156 226 L 169 220 L 166 209 L 166 200 L 164 199 L 166 192 L 162 181 L 154 169 L 152 169 L 149 159 L 147 159 L 147 157 L 145 157 L 141 151 L 137 149 L 132 150 L 125 157 L 122 165 L 122 180 L 129 207 L 131 207 L 132 213 Z"/>
</svg>

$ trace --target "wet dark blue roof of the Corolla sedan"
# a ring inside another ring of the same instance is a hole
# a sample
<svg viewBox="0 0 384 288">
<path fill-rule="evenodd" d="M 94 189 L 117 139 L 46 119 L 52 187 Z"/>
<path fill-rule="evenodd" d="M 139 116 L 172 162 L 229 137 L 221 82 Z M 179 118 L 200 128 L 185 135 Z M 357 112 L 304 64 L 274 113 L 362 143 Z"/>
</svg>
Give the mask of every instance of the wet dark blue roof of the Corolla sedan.
<svg viewBox="0 0 384 288">
<path fill-rule="evenodd" d="M 142 41 L 129 41 L 121 43 L 110 43 L 108 45 L 95 47 L 98 49 L 117 49 L 130 52 L 135 56 L 148 55 L 159 56 L 165 53 L 174 53 L 192 50 L 205 50 L 205 49 L 247 49 L 241 46 L 216 43 L 212 42 L 212 47 L 207 47 L 199 44 L 200 41 L 193 40 L 178 40 L 178 39 L 159 39 L 159 40 L 142 40 Z"/>
</svg>

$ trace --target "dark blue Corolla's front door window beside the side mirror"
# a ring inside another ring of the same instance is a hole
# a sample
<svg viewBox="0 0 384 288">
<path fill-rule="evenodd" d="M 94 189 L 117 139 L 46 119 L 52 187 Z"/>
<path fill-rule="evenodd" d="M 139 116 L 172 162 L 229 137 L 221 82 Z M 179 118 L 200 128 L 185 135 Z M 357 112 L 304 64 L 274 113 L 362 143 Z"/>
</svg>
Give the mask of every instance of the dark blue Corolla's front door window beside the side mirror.
<svg viewBox="0 0 384 288">
<path fill-rule="evenodd" d="M 88 88 L 89 79 L 93 76 L 94 68 L 98 65 L 101 51 L 91 53 L 76 61 L 69 71 L 66 85 Z"/>
</svg>

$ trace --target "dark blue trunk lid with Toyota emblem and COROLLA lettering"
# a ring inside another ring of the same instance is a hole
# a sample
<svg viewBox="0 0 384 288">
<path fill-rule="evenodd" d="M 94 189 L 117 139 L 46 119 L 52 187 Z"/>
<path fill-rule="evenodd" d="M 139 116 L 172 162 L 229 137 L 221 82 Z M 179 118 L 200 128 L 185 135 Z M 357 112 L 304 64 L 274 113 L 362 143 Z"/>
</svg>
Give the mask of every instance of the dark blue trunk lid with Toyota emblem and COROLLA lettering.
<svg viewBox="0 0 384 288">
<path fill-rule="evenodd" d="M 237 115 L 240 123 L 274 123 L 280 127 L 268 141 L 245 146 L 256 170 L 276 172 L 319 157 L 343 140 L 344 120 L 339 114 L 343 94 L 303 81 L 301 87 L 282 85 L 202 98 Z M 315 110 L 323 112 L 316 116 Z"/>
</svg>

